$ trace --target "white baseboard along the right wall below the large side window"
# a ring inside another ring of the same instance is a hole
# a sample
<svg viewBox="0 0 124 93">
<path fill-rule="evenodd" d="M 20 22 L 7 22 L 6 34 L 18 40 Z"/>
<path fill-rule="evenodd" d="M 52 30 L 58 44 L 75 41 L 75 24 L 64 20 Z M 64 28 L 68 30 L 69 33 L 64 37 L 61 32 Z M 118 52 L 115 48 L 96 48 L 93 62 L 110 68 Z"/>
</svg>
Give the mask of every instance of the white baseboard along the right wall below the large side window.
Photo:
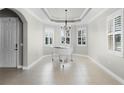
<svg viewBox="0 0 124 93">
<path fill-rule="evenodd" d="M 102 64 L 100 64 L 99 62 L 97 62 L 92 57 L 88 56 L 88 58 L 90 60 L 92 60 L 92 62 L 94 62 L 97 66 L 99 66 L 102 70 L 104 70 L 106 73 L 108 73 L 109 75 L 111 75 L 114 79 L 116 79 L 117 81 L 119 81 L 121 84 L 124 84 L 124 79 L 122 79 L 121 77 L 119 77 L 118 75 L 116 75 L 114 72 L 110 71 L 108 68 L 106 68 L 105 66 L 103 66 Z"/>
</svg>

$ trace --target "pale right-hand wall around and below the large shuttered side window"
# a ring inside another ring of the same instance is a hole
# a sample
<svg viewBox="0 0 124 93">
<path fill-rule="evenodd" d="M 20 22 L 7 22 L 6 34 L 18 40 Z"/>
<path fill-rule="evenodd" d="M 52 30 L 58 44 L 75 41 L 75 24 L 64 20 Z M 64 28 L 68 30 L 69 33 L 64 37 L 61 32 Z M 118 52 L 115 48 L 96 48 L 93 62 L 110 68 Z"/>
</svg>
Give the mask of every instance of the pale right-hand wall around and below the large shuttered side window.
<svg viewBox="0 0 124 93">
<path fill-rule="evenodd" d="M 107 49 L 107 16 L 117 9 L 109 9 L 88 25 L 88 54 L 97 62 L 124 79 L 124 58 Z"/>
</svg>

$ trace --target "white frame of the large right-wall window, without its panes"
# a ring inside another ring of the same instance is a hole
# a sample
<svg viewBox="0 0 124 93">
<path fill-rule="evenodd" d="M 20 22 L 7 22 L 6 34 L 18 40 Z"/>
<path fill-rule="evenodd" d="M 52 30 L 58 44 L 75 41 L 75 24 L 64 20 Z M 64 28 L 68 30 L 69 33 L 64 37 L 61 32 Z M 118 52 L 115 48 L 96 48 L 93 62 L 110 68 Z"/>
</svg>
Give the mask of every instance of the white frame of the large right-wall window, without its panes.
<svg viewBox="0 0 124 93">
<path fill-rule="evenodd" d="M 120 57 L 124 57 L 124 20 L 123 20 L 123 18 L 124 18 L 124 12 L 123 12 L 124 10 L 123 9 L 118 9 L 118 10 L 116 10 L 115 12 L 113 12 L 110 16 L 108 16 L 107 17 L 107 49 L 109 50 L 109 52 L 110 53 L 112 53 L 112 54 L 115 54 L 115 55 L 117 55 L 117 56 L 120 56 Z M 117 17 L 117 16 L 121 16 L 121 31 L 115 31 L 115 18 Z M 112 21 L 112 31 L 110 31 L 110 20 L 113 20 Z M 110 32 L 109 32 L 110 31 Z M 120 41 L 120 43 L 121 43 L 121 51 L 117 51 L 117 50 L 115 50 L 116 49 L 116 45 L 115 45 L 115 35 L 118 35 L 118 34 L 120 34 L 121 35 L 121 41 Z M 112 49 L 109 49 L 109 36 L 110 35 L 112 35 L 113 36 L 113 48 Z"/>
</svg>

